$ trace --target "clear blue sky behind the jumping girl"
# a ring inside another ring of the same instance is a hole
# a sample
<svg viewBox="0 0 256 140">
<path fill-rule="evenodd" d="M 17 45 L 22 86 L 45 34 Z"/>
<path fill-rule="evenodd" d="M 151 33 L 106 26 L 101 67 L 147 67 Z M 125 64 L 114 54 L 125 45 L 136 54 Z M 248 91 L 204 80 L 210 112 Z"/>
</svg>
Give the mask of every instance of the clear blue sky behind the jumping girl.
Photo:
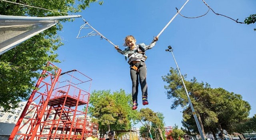
<svg viewBox="0 0 256 140">
<path fill-rule="evenodd" d="M 186 0 L 105 0 L 81 13 L 88 23 L 119 45 L 121 49 L 124 38 L 133 35 L 137 43 L 150 44 L 169 20 L 176 14 Z M 243 22 L 250 14 L 256 13 L 255 0 L 205 0 L 219 14 L 224 14 Z M 208 7 L 202 0 L 190 0 L 181 13 L 184 16 L 200 16 Z M 124 56 L 119 54 L 112 44 L 100 40 L 100 36 L 77 39 L 82 18 L 66 22 L 60 36 L 64 46 L 59 48 L 57 64 L 62 72 L 77 69 L 92 78 L 92 90 L 120 90 L 131 92 L 129 65 Z M 162 76 L 168 74 L 170 67 L 176 68 L 167 46 L 174 49 L 174 56 L 186 80 L 196 77 L 208 82 L 212 88 L 224 88 L 229 92 L 241 94 L 252 106 L 250 116 L 256 114 L 256 28 L 255 24 L 238 24 L 212 11 L 201 18 L 183 18 L 177 16 L 159 36 L 154 48 L 147 50 L 148 106 L 155 112 L 162 112 L 166 126 L 179 127 L 182 120 L 182 108 L 171 110 L 172 99 L 167 99 Z M 92 30 L 83 29 L 80 36 Z M 184 93 L 185 94 L 185 93 Z M 138 97 L 141 95 L 139 92 Z"/>
</svg>

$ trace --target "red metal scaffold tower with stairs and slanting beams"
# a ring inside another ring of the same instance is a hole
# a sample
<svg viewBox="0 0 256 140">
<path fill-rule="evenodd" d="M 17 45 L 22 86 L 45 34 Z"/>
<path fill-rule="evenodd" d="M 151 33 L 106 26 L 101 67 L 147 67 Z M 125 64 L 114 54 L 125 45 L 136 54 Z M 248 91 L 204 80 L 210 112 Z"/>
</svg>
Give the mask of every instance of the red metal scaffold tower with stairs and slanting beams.
<svg viewBox="0 0 256 140">
<path fill-rule="evenodd" d="M 84 140 L 98 130 L 86 120 L 92 79 L 49 65 L 55 70 L 42 72 L 9 140 Z"/>
</svg>

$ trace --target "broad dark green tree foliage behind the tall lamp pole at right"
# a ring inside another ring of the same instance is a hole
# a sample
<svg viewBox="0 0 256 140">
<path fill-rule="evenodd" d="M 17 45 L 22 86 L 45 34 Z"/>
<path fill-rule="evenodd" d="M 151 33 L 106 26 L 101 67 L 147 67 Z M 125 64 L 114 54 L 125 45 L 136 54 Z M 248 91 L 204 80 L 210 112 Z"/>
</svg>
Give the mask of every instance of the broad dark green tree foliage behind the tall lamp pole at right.
<svg viewBox="0 0 256 140">
<path fill-rule="evenodd" d="M 186 76 L 183 77 L 186 78 Z M 171 108 L 182 106 L 184 127 L 198 133 L 178 70 L 171 68 L 170 73 L 162 78 L 169 84 L 165 86 L 167 97 L 174 100 Z M 208 83 L 197 82 L 196 78 L 184 82 L 203 132 L 214 133 L 217 129 L 221 132 L 231 131 L 232 124 L 247 119 L 250 104 L 242 100 L 240 94 L 234 94 L 222 88 L 211 88 Z"/>
</svg>

